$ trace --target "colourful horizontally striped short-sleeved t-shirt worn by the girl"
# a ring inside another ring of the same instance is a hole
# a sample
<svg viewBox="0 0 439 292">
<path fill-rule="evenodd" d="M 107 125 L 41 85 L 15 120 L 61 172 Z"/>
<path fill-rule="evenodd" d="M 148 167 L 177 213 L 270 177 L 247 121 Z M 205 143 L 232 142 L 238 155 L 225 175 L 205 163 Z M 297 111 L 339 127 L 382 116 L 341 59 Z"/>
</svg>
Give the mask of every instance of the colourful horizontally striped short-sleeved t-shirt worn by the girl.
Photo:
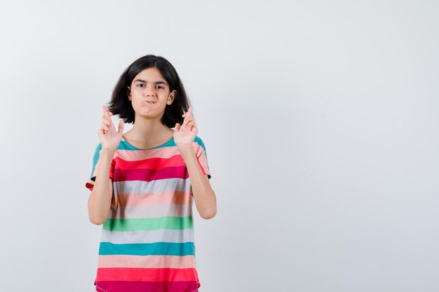
<svg viewBox="0 0 439 292">
<path fill-rule="evenodd" d="M 210 171 L 203 141 L 194 151 Z M 96 147 L 86 188 L 93 190 L 102 145 Z M 189 172 L 174 139 L 141 149 L 122 138 L 110 167 L 112 207 L 102 225 L 96 291 L 196 292 L 193 194 Z"/>
</svg>

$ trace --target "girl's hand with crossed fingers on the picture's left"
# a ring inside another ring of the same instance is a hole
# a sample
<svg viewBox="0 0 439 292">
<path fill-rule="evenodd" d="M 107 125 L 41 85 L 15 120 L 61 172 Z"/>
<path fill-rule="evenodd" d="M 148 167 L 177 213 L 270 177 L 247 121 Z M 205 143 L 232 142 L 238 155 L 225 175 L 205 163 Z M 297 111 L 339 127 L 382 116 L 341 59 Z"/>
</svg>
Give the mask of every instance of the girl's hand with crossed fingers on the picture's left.
<svg viewBox="0 0 439 292">
<path fill-rule="evenodd" d="M 116 150 L 121 143 L 123 135 L 123 120 L 119 121 L 119 131 L 116 132 L 116 128 L 114 127 L 111 118 L 113 113 L 111 113 L 104 105 L 102 105 L 102 111 L 102 123 L 97 131 L 100 144 L 102 145 L 102 149 Z"/>
</svg>

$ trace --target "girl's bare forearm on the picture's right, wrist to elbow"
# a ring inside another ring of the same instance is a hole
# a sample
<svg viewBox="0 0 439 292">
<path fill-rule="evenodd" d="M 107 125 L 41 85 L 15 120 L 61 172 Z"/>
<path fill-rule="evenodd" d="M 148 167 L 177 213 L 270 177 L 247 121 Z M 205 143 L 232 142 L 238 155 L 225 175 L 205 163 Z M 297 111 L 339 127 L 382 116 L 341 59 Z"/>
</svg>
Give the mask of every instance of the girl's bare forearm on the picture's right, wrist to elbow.
<svg viewBox="0 0 439 292">
<path fill-rule="evenodd" d="M 208 176 L 203 174 L 198 161 L 196 161 L 194 147 L 192 145 L 180 146 L 179 151 L 189 172 L 198 213 L 204 219 L 213 218 L 217 214 L 217 199 L 210 186 Z"/>
</svg>

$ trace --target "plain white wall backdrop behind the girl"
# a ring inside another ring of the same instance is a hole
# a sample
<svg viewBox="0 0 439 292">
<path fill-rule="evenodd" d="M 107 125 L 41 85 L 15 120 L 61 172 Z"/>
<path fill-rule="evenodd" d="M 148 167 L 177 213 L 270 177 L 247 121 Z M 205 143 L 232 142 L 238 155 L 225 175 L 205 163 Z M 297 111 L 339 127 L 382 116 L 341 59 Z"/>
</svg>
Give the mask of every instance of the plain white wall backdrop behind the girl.
<svg viewBox="0 0 439 292">
<path fill-rule="evenodd" d="M 200 292 L 439 291 L 438 8 L 1 1 L 0 291 L 94 291 L 101 105 L 147 54 L 182 78 L 217 195 Z"/>
</svg>

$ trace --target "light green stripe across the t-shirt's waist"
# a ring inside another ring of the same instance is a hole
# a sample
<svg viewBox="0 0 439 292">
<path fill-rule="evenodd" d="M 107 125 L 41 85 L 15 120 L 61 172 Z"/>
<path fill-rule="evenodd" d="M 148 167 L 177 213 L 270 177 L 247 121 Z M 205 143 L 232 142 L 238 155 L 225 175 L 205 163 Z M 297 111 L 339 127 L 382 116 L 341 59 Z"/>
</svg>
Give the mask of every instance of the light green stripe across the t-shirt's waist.
<svg viewBox="0 0 439 292">
<path fill-rule="evenodd" d="M 104 230 L 112 231 L 135 231 L 135 230 L 159 230 L 159 229 L 194 229 L 192 216 L 185 217 L 158 217 L 158 218 L 131 218 L 111 219 L 107 218 Z"/>
</svg>

